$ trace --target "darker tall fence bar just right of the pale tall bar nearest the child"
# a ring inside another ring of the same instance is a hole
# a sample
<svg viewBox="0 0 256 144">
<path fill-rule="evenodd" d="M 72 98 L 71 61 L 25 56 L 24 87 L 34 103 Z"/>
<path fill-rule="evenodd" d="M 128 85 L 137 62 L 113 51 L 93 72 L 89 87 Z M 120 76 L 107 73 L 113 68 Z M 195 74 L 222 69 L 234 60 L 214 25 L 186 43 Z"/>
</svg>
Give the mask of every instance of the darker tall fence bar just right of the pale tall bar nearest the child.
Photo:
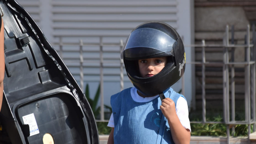
<svg viewBox="0 0 256 144">
<path fill-rule="evenodd" d="M 231 27 L 231 44 L 234 44 L 234 25 Z M 235 48 L 231 48 L 231 61 L 234 62 L 234 51 Z M 234 65 L 231 65 L 231 117 L 232 121 L 235 121 L 235 68 Z M 235 133 L 235 127 L 234 125 L 232 126 L 232 136 L 234 136 Z"/>
</svg>

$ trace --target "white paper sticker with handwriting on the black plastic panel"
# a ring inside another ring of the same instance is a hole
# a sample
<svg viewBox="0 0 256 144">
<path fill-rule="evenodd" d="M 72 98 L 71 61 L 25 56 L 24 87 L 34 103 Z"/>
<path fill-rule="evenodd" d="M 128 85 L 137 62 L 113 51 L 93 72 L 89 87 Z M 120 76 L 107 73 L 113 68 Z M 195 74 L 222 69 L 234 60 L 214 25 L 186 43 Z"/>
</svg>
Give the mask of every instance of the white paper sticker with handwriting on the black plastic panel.
<svg viewBox="0 0 256 144">
<path fill-rule="evenodd" d="M 29 125 L 30 136 L 39 133 L 34 113 L 22 117 L 24 124 Z"/>
</svg>

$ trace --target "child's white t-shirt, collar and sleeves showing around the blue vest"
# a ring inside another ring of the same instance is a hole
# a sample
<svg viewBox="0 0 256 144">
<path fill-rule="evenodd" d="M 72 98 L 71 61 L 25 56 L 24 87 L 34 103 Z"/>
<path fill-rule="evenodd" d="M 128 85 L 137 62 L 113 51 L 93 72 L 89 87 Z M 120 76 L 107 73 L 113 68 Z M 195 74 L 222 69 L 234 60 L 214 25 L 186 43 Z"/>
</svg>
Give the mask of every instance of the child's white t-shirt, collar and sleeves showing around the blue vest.
<svg viewBox="0 0 256 144">
<path fill-rule="evenodd" d="M 131 88 L 131 95 L 132 95 L 132 99 L 136 102 L 148 102 L 148 101 L 151 101 L 158 97 L 158 95 L 157 95 L 157 96 L 153 96 L 153 97 L 143 98 L 138 95 L 137 89 L 135 87 Z M 188 104 L 187 104 L 187 101 L 185 100 L 185 98 L 183 98 L 183 97 L 178 98 L 175 109 L 176 109 L 177 116 L 178 116 L 182 126 L 185 129 L 189 129 L 191 131 L 190 122 L 189 122 L 189 118 L 188 118 Z M 108 127 L 112 127 L 112 128 L 115 127 L 113 114 L 111 114 L 111 116 L 110 116 Z"/>
</svg>

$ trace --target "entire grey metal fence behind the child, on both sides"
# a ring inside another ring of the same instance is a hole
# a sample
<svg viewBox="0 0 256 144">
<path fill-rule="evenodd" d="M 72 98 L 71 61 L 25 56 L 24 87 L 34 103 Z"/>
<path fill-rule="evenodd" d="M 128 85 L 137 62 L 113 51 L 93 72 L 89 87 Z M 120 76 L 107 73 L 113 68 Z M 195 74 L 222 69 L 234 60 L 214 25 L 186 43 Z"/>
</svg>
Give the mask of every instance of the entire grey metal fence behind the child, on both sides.
<svg viewBox="0 0 256 144">
<path fill-rule="evenodd" d="M 250 26 L 247 26 L 246 36 L 245 36 L 245 44 L 234 44 L 234 28 L 231 28 L 231 37 L 229 36 L 229 26 L 226 27 L 226 32 L 223 37 L 223 44 L 206 44 L 205 40 L 202 40 L 201 44 L 191 44 L 185 45 L 185 47 L 197 47 L 201 48 L 202 53 L 202 60 L 201 61 L 187 61 L 187 64 L 197 64 L 201 65 L 202 67 L 202 121 L 190 121 L 191 123 L 202 123 L 202 124 L 226 124 L 227 126 L 227 143 L 229 144 L 230 139 L 230 128 L 231 134 L 234 133 L 234 126 L 241 124 L 241 125 L 248 125 L 248 141 L 249 135 L 251 131 L 251 125 L 253 125 L 253 132 L 256 129 L 256 117 L 255 117 L 255 26 L 252 26 L 252 38 L 250 36 Z M 73 75 L 80 76 L 80 86 L 84 89 L 84 75 L 90 75 L 84 73 L 84 68 L 90 68 L 93 66 L 86 65 L 86 61 L 90 61 L 95 64 L 99 64 L 96 67 L 100 68 L 99 74 L 100 77 L 100 97 L 101 97 L 101 118 L 98 121 L 106 121 L 104 119 L 104 92 L 103 92 L 103 77 L 108 75 L 115 75 L 120 76 L 120 79 L 116 82 L 120 82 L 120 90 L 124 88 L 124 77 L 126 73 L 124 73 L 124 64 L 123 60 L 119 58 L 120 53 L 123 49 L 123 41 L 120 40 L 119 43 L 103 43 L 102 37 L 99 36 L 100 42 L 99 43 L 83 43 L 82 40 L 79 40 L 79 43 L 65 43 L 62 42 L 62 38 L 59 38 L 59 43 L 56 43 L 58 47 L 55 47 L 58 51 L 60 57 L 66 63 L 66 65 L 70 67 L 77 67 L 80 69 L 79 73 L 73 73 Z M 251 41 L 252 40 L 252 41 Z M 230 43 L 231 42 L 231 43 Z M 63 46 L 72 46 L 79 49 L 63 49 Z M 86 47 L 89 46 L 97 46 L 99 49 L 97 50 L 87 50 Z M 119 47 L 112 50 L 104 50 L 104 46 L 113 46 Z M 206 48 L 223 48 L 223 61 L 222 62 L 211 62 L 206 61 L 205 49 Z M 235 61 L 234 51 L 236 48 L 244 48 L 245 52 L 245 59 L 244 61 Z M 79 53 L 79 57 L 73 58 L 65 58 L 63 57 L 63 53 L 72 52 L 72 53 Z M 86 58 L 83 56 L 84 53 L 91 53 L 96 52 L 99 53 L 99 57 L 97 58 Z M 118 57 L 116 58 L 104 58 L 104 53 L 116 53 Z M 230 58 L 231 55 L 231 58 Z M 108 65 L 114 64 L 114 65 Z M 205 67 L 208 65 L 222 65 L 223 71 L 223 121 L 216 122 L 216 121 L 207 121 L 206 120 L 206 83 L 205 83 Z M 244 81 L 245 81 L 245 89 L 244 89 L 244 100 L 245 100 L 245 120 L 237 121 L 235 119 L 235 66 L 240 65 L 244 67 Z M 113 74 L 106 74 L 103 72 L 103 68 L 117 68 L 120 67 L 120 73 L 113 73 Z M 91 74 L 93 75 L 93 74 Z M 184 93 L 184 79 L 182 80 L 182 90 Z M 195 98 L 192 98 L 195 99 Z M 231 99 L 231 100 L 230 100 Z M 230 106 L 231 104 L 231 106 Z M 231 114 L 230 114 L 231 112 Z M 231 116 L 231 119 L 230 119 Z"/>
</svg>

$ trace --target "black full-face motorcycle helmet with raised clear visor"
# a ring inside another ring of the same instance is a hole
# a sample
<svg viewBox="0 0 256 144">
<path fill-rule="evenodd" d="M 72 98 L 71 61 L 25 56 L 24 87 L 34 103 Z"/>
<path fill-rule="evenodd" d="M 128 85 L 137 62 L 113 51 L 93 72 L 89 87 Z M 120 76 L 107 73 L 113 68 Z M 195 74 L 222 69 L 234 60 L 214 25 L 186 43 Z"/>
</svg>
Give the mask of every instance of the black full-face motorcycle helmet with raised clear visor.
<svg viewBox="0 0 256 144">
<path fill-rule="evenodd" d="M 138 60 L 167 56 L 165 67 L 152 77 L 140 76 Z M 136 27 L 127 38 L 121 54 L 134 87 L 145 96 L 154 96 L 172 86 L 185 71 L 185 50 L 174 28 L 162 22 L 148 22 Z"/>
</svg>

